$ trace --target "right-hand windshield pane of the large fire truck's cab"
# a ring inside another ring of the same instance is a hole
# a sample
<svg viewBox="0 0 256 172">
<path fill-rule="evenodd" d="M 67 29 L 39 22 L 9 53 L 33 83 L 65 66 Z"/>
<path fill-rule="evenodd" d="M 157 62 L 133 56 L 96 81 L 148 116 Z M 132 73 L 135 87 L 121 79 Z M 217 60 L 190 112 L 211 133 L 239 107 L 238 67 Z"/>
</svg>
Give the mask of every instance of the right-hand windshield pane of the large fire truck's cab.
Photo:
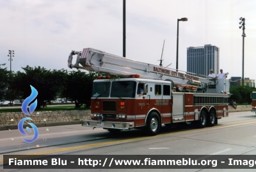
<svg viewBox="0 0 256 172">
<path fill-rule="evenodd" d="M 110 97 L 135 97 L 136 82 L 118 81 L 112 82 Z"/>
</svg>

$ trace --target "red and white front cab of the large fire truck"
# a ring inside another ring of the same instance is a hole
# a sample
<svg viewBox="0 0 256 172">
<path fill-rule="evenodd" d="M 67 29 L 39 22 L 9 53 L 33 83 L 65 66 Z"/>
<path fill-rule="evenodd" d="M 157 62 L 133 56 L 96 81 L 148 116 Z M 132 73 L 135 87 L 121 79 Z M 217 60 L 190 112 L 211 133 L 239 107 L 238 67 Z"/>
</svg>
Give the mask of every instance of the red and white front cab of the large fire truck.
<svg viewBox="0 0 256 172">
<path fill-rule="evenodd" d="M 147 126 L 147 118 L 154 112 L 157 117 L 152 126 L 157 131 L 151 132 L 157 133 L 164 118 L 171 122 L 171 99 L 172 82 L 100 77 L 93 82 L 91 120 L 83 120 L 82 125 L 118 132 Z M 169 117 L 163 117 L 164 111 L 169 112 Z"/>
</svg>

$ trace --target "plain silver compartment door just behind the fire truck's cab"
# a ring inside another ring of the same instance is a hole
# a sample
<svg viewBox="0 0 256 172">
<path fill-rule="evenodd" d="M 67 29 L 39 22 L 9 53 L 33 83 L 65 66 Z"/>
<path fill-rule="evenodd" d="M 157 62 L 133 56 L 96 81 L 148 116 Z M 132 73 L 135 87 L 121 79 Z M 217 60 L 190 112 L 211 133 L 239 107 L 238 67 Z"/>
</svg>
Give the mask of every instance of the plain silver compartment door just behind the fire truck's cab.
<svg viewBox="0 0 256 172">
<path fill-rule="evenodd" d="M 172 120 L 184 120 L 184 94 L 173 94 Z"/>
</svg>

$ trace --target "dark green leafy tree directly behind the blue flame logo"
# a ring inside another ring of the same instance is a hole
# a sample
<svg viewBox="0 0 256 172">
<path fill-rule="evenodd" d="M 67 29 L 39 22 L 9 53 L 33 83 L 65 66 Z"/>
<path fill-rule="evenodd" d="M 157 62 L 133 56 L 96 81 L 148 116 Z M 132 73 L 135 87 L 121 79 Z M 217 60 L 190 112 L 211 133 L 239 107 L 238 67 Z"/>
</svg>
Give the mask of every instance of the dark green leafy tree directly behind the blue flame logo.
<svg viewBox="0 0 256 172">
<path fill-rule="evenodd" d="M 18 71 L 13 79 L 15 91 L 22 99 L 26 99 L 31 94 L 30 85 L 35 87 L 38 91 L 37 109 L 46 102 L 54 100 L 57 93 L 65 86 L 67 71 L 64 69 L 51 71 L 40 66 L 35 68 L 26 66 L 22 69 L 24 72 Z"/>
</svg>

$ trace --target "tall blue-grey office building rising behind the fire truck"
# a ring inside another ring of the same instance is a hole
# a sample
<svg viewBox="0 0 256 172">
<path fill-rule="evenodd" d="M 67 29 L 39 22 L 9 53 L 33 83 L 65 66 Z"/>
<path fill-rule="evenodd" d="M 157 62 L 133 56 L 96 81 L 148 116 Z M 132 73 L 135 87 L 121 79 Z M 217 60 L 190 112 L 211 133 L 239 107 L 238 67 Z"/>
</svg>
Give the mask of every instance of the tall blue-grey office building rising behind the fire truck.
<svg viewBox="0 0 256 172">
<path fill-rule="evenodd" d="M 210 69 L 215 75 L 219 73 L 220 48 L 204 45 L 204 47 L 187 48 L 187 71 L 200 75 L 209 75 Z"/>
</svg>

